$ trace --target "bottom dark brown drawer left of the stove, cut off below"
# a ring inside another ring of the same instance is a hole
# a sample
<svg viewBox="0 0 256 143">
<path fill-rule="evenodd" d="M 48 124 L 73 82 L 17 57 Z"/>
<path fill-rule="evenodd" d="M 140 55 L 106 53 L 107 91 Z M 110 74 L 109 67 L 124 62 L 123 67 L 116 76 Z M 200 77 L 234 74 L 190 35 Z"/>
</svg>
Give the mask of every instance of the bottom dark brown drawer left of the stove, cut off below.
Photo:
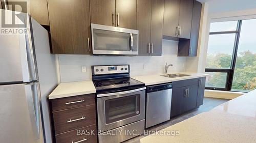
<svg viewBox="0 0 256 143">
<path fill-rule="evenodd" d="M 82 134 L 79 134 L 79 133 L 82 133 Z M 74 143 L 81 140 L 84 140 L 81 142 L 86 142 L 86 143 L 97 143 L 96 125 L 91 125 L 88 127 L 58 134 L 55 137 L 56 137 L 56 143 L 72 143 L 72 142 Z"/>
</svg>

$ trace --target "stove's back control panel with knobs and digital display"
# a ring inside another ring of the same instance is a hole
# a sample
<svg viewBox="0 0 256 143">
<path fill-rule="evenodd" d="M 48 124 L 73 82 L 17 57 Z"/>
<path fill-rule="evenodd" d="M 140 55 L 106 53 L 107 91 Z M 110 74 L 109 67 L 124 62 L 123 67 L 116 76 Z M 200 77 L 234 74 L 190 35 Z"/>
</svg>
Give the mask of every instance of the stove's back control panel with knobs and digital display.
<svg viewBox="0 0 256 143">
<path fill-rule="evenodd" d="M 92 74 L 130 73 L 130 65 L 92 66 Z"/>
</svg>

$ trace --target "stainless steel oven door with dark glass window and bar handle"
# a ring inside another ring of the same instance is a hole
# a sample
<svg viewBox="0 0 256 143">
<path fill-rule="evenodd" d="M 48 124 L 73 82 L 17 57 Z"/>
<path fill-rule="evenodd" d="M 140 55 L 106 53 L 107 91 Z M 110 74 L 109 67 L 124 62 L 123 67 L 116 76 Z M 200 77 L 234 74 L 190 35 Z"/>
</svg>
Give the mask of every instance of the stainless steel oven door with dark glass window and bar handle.
<svg viewBox="0 0 256 143">
<path fill-rule="evenodd" d="M 111 130 L 145 117 L 145 88 L 97 95 L 99 130 Z"/>
</svg>

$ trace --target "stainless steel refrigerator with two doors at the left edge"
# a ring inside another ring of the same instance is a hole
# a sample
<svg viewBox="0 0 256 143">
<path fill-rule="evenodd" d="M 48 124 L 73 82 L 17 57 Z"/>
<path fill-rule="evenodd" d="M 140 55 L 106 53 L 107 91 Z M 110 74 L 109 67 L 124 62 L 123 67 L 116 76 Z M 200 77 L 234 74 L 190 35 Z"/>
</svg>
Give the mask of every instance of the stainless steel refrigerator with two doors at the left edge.
<svg viewBox="0 0 256 143">
<path fill-rule="evenodd" d="M 0 142 L 51 143 L 47 98 L 58 84 L 55 55 L 48 31 L 23 16 L 27 33 L 0 35 Z"/>
</svg>

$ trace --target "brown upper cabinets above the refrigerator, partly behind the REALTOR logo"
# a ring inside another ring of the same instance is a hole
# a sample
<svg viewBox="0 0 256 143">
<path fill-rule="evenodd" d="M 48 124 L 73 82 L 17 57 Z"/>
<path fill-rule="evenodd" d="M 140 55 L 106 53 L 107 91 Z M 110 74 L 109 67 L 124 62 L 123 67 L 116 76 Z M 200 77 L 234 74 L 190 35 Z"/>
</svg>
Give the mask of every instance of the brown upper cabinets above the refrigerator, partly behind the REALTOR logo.
<svg viewBox="0 0 256 143">
<path fill-rule="evenodd" d="M 29 4 L 28 5 L 29 11 L 27 9 L 28 6 L 20 5 L 20 7 L 22 7 L 22 12 L 29 13 L 39 24 L 49 26 L 47 0 L 27 0 L 26 2 L 27 2 L 27 5 Z M 17 3 L 17 5 L 20 4 L 17 1 L 9 1 L 9 2 L 8 0 L 6 0 L 6 2 L 1 1 L 0 8 L 10 10 L 8 6 L 7 8 L 5 7 L 5 4 L 8 4 L 10 7 L 15 5 L 15 3 Z"/>
</svg>

